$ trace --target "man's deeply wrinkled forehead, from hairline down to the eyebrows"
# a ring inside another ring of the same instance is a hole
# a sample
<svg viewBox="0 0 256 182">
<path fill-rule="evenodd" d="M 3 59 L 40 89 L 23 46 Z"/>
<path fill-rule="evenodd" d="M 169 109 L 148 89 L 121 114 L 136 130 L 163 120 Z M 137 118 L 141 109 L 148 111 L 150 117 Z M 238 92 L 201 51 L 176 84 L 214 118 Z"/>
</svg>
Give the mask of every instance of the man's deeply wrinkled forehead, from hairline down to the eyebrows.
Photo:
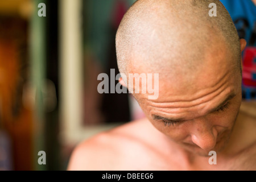
<svg viewBox="0 0 256 182">
<path fill-rule="evenodd" d="M 214 61 L 209 61 L 201 67 L 201 71 L 191 75 L 182 71 L 171 77 L 159 73 L 159 97 L 156 100 L 148 100 L 144 97 L 146 95 L 140 94 L 139 100 L 144 100 L 144 108 L 151 115 L 161 114 L 175 118 L 204 115 L 220 105 L 230 94 L 237 94 L 241 90 L 239 71 L 229 66 L 231 64 L 228 64 L 228 61 L 216 67 L 221 61 L 223 59 L 216 60 L 215 65 Z"/>
</svg>

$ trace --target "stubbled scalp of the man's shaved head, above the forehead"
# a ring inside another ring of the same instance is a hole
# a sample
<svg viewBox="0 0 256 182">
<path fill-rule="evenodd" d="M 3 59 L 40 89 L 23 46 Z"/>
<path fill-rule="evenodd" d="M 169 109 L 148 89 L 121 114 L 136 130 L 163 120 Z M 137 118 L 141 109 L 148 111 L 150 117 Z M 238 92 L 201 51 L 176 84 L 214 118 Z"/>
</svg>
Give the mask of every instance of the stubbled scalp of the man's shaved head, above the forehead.
<svg viewBox="0 0 256 182">
<path fill-rule="evenodd" d="M 209 16 L 210 3 L 217 5 L 216 17 Z M 207 56 L 223 51 L 229 55 L 226 64 L 241 72 L 240 39 L 217 0 L 139 0 L 122 19 L 116 49 L 119 71 L 125 74 L 142 68 L 141 72 L 191 76 L 204 68 Z M 214 63 L 221 64 L 223 60 Z"/>
</svg>

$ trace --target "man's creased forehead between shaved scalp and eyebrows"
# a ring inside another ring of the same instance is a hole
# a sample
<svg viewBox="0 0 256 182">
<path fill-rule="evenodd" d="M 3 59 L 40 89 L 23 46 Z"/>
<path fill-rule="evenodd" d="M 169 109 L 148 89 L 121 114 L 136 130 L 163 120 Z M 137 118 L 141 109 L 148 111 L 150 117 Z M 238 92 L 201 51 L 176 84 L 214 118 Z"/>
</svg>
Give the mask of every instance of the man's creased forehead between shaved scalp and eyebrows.
<svg viewBox="0 0 256 182">
<path fill-rule="evenodd" d="M 158 99 L 145 99 L 147 111 L 151 115 L 194 118 L 217 107 L 230 94 L 240 92 L 239 74 L 234 76 L 232 71 L 227 70 L 217 75 L 209 75 L 203 74 L 190 81 L 181 79 L 176 84 L 170 80 L 159 80 Z"/>
</svg>

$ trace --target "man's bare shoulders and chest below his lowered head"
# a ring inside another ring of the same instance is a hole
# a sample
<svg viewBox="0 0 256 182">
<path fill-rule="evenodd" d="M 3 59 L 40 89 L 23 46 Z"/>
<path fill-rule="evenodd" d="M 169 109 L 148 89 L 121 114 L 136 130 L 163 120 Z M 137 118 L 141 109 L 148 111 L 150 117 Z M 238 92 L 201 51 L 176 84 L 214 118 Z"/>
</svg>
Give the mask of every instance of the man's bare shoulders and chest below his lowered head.
<svg viewBox="0 0 256 182">
<path fill-rule="evenodd" d="M 210 156 L 187 155 L 146 119 L 129 122 L 81 143 L 71 170 L 255 170 L 256 119 L 240 112 L 230 142 Z"/>
</svg>

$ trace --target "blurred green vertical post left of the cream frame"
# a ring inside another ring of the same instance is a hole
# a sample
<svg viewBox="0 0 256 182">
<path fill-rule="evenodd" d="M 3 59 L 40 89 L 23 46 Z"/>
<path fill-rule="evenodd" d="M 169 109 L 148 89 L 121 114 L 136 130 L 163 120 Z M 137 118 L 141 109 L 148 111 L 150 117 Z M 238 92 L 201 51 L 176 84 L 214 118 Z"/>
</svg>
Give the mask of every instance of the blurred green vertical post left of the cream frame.
<svg viewBox="0 0 256 182">
<path fill-rule="evenodd" d="M 31 82 L 32 88 L 35 88 L 35 113 L 34 113 L 34 158 L 35 170 L 46 170 L 47 165 L 38 164 L 38 152 L 46 151 L 44 141 L 45 115 L 43 106 L 42 88 L 46 80 L 46 17 L 38 16 L 39 3 L 46 4 L 44 0 L 34 1 L 34 13 L 30 24 L 30 62 L 31 62 Z M 46 154 L 47 155 L 47 154 Z M 47 156 L 46 156 L 47 157 Z"/>
</svg>

